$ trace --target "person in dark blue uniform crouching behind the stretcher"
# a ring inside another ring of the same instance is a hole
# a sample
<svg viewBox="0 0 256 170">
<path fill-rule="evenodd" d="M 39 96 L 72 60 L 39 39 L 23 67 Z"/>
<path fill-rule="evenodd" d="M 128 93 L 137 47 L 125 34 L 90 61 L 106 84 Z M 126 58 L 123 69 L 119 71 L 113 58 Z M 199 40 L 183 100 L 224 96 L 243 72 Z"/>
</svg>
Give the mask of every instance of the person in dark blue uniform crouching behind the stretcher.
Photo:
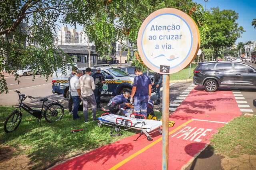
<svg viewBox="0 0 256 170">
<path fill-rule="evenodd" d="M 124 94 L 120 94 L 115 96 L 108 102 L 108 109 L 110 112 L 114 114 L 122 114 L 122 111 L 126 107 L 130 107 L 134 109 L 134 107 L 128 102 L 128 98 L 130 97 L 130 92 L 124 92 Z"/>
</svg>

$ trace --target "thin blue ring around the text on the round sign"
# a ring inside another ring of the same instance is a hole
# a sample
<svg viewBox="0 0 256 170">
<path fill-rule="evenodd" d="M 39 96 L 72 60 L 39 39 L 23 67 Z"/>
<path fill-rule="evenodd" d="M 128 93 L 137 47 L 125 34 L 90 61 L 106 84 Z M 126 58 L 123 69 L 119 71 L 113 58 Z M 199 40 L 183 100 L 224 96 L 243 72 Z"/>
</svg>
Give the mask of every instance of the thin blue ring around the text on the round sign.
<svg viewBox="0 0 256 170">
<path fill-rule="evenodd" d="M 186 23 L 186 25 L 188 26 L 188 29 L 189 29 L 190 35 L 191 35 L 191 45 L 190 45 L 190 49 L 189 49 L 188 54 L 186 55 L 185 59 L 180 62 L 180 63 L 183 63 L 183 62 L 188 58 L 188 56 L 189 56 L 189 54 L 190 54 L 190 52 L 191 52 L 191 49 L 192 49 L 192 44 L 193 44 L 193 35 L 192 35 L 192 31 L 191 31 L 191 29 L 190 29 L 190 26 L 188 25 L 188 23 L 187 23 L 182 17 L 180 17 L 180 16 L 178 16 L 178 15 L 176 15 L 176 14 L 171 14 L 171 13 L 160 14 L 160 15 L 154 17 L 152 20 L 150 20 L 150 21 L 148 22 L 148 24 L 150 24 L 151 21 L 153 21 L 154 19 L 156 19 L 157 17 L 162 16 L 162 15 L 172 15 L 172 16 L 176 16 L 176 17 L 182 19 L 182 20 Z M 143 37 L 144 37 L 144 31 L 145 31 L 145 29 L 148 27 L 148 24 L 146 25 L 146 27 L 144 28 L 143 33 L 142 33 L 141 47 L 142 47 L 142 51 L 143 51 L 143 54 L 144 54 L 145 58 L 147 59 L 147 61 L 148 61 L 149 63 L 151 63 L 151 61 L 148 60 L 148 58 L 146 57 L 146 54 L 145 54 L 145 52 L 144 52 L 144 47 L 143 47 L 143 44 L 142 44 Z M 180 63 L 178 63 L 176 66 L 178 66 Z M 155 65 L 154 63 L 151 63 L 151 64 L 154 65 L 155 67 L 160 68 L 160 66 L 157 66 L 157 65 Z M 175 68 L 176 66 L 170 66 L 170 68 Z"/>
</svg>

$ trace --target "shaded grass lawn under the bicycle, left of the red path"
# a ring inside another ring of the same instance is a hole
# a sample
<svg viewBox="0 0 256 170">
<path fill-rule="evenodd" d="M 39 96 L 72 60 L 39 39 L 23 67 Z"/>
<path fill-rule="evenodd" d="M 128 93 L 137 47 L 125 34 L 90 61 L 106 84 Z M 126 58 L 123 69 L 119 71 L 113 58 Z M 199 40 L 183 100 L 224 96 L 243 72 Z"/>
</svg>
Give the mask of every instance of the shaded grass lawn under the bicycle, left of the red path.
<svg viewBox="0 0 256 170">
<path fill-rule="evenodd" d="M 91 121 L 91 112 L 88 114 L 90 122 L 85 124 L 83 118 L 73 121 L 72 115 L 69 115 L 67 110 L 63 118 L 55 123 L 47 123 L 43 118 L 41 127 L 35 117 L 23 110 L 20 126 L 16 131 L 7 134 L 4 132 L 4 121 L 14 109 L 14 107 L 0 106 L 0 143 L 16 147 L 18 150 L 20 146 L 27 147 L 28 149 L 16 154 L 25 153 L 34 164 L 34 169 L 47 168 L 64 158 L 134 135 L 131 131 L 123 131 L 122 136 L 110 137 L 110 127 L 98 127 L 96 122 Z M 102 113 L 98 111 L 97 116 Z M 156 114 L 161 118 L 161 113 Z M 83 117 L 82 111 L 79 111 L 79 115 Z M 84 128 L 87 130 L 70 133 L 72 129 Z"/>
</svg>

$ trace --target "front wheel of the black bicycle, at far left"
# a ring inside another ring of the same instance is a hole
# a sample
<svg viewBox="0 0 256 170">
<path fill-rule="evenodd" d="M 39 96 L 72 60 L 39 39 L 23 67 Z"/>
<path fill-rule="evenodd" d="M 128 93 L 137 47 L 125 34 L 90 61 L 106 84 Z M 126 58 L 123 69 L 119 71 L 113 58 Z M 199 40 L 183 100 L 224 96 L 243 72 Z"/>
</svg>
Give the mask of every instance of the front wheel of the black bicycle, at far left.
<svg viewBox="0 0 256 170">
<path fill-rule="evenodd" d="M 21 119 L 22 114 L 17 110 L 13 111 L 4 122 L 4 131 L 6 133 L 15 131 L 20 125 Z"/>
</svg>

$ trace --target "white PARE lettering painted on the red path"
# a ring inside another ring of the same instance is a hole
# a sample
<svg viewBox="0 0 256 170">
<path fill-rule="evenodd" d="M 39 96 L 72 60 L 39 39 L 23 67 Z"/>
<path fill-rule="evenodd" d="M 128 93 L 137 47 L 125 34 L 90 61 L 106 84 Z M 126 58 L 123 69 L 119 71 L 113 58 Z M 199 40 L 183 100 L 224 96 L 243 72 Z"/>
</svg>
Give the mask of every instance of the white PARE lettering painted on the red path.
<svg viewBox="0 0 256 170">
<path fill-rule="evenodd" d="M 178 133 L 172 135 L 171 137 L 177 136 L 177 139 L 180 137 L 183 137 L 183 140 L 190 140 L 190 141 L 195 141 L 195 142 L 201 142 L 202 139 L 200 139 L 203 136 L 207 135 L 207 132 L 212 131 L 212 129 L 204 129 L 204 128 L 198 128 L 198 127 L 184 127 L 182 130 L 180 130 Z"/>
</svg>

